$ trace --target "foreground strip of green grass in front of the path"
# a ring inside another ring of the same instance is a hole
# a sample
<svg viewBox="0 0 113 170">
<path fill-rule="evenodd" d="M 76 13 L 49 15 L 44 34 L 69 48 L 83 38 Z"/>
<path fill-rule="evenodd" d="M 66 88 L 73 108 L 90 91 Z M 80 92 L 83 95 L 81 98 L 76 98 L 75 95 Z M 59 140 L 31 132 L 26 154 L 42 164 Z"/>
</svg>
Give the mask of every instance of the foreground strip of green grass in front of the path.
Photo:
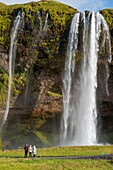
<svg viewBox="0 0 113 170">
<path fill-rule="evenodd" d="M 110 160 L 0 159 L 0 170 L 113 170 Z"/>
</svg>

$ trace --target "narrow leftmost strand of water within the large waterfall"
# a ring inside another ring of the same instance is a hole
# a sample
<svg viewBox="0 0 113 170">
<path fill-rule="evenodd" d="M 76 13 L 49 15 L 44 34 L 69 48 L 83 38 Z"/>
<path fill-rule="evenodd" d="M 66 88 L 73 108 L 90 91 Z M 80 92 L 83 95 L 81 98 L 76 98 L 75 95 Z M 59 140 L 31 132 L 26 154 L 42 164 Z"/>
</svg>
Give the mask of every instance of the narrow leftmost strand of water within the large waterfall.
<svg viewBox="0 0 113 170">
<path fill-rule="evenodd" d="M 77 50 L 77 44 L 78 44 L 79 16 L 80 16 L 79 13 L 76 14 L 74 16 L 73 22 L 71 24 L 69 43 L 68 43 L 68 48 L 67 48 L 68 58 L 67 58 L 66 64 L 65 64 L 65 74 L 64 74 L 64 80 L 63 80 L 63 84 L 64 84 L 64 91 L 63 91 L 64 114 L 63 114 L 62 127 L 64 128 L 63 129 L 63 139 L 64 140 L 66 140 L 66 137 L 67 137 L 68 118 L 69 118 L 69 113 L 71 112 L 71 108 L 70 108 L 71 84 L 72 84 L 72 75 L 74 73 L 74 66 L 75 66 L 74 53 Z M 76 43 L 74 43 L 74 42 L 76 42 Z M 74 48 L 73 48 L 73 45 L 74 45 Z M 62 130 L 61 130 L 61 132 L 62 132 Z"/>
</svg>

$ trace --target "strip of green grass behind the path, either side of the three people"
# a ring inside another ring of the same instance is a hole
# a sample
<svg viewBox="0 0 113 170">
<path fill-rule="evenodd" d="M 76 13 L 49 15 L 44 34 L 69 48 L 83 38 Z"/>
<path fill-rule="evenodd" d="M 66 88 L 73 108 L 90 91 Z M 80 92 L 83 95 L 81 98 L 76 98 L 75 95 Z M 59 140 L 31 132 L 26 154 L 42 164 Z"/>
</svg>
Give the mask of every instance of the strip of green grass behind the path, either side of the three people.
<svg viewBox="0 0 113 170">
<path fill-rule="evenodd" d="M 38 146 L 37 146 L 38 148 Z M 37 156 L 86 156 L 112 154 L 113 146 L 70 146 L 38 148 Z M 0 151 L 0 156 L 23 157 L 23 150 L 4 150 Z"/>
</svg>

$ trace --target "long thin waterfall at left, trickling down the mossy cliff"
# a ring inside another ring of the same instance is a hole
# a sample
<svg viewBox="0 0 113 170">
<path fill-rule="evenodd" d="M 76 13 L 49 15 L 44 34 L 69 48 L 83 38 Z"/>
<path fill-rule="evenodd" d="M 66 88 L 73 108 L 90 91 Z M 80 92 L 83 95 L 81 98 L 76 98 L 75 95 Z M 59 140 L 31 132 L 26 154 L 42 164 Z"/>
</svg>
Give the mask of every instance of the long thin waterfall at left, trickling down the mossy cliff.
<svg viewBox="0 0 113 170">
<path fill-rule="evenodd" d="M 15 58 L 16 58 L 16 41 L 17 41 L 17 34 L 19 31 L 19 27 L 22 23 L 22 18 L 24 17 L 24 13 L 18 12 L 17 17 L 14 20 L 13 28 L 11 30 L 11 38 L 10 38 L 10 51 L 9 51 L 9 84 L 8 84 L 8 95 L 7 95 L 7 104 L 6 104 L 6 111 L 3 116 L 0 131 L 7 120 L 9 106 L 10 106 L 10 97 L 11 97 L 11 88 L 12 88 L 12 79 L 14 74 L 14 65 L 15 65 Z"/>
</svg>

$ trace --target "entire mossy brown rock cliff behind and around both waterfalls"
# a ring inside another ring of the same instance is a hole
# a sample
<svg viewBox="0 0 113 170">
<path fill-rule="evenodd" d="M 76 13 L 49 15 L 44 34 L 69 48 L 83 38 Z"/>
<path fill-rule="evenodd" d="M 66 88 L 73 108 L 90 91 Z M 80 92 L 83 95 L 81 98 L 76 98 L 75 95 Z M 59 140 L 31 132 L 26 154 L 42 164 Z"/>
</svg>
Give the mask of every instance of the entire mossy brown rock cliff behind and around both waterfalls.
<svg viewBox="0 0 113 170">
<path fill-rule="evenodd" d="M 10 33 L 18 11 L 25 15 L 17 36 L 10 110 L 3 127 L 2 140 L 5 147 L 18 147 L 26 142 L 35 142 L 39 146 L 55 145 L 63 110 L 62 76 L 68 34 L 77 10 L 55 1 L 13 6 L 0 4 L 1 117 L 6 107 Z M 101 13 L 110 27 L 113 54 L 113 10 L 106 9 Z M 112 71 L 111 63 L 109 99 L 98 95 L 103 132 L 113 130 Z"/>
</svg>

